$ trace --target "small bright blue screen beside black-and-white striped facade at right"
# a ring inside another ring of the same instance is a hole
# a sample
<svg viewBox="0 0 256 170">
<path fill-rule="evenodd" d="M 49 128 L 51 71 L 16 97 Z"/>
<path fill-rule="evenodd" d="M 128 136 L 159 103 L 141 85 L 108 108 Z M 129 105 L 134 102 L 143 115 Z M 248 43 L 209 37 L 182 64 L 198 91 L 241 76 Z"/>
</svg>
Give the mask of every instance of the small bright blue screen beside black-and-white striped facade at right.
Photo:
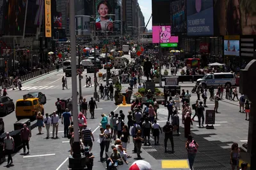
<svg viewBox="0 0 256 170">
<path fill-rule="evenodd" d="M 239 56 L 239 40 L 224 40 L 224 55 Z"/>
</svg>

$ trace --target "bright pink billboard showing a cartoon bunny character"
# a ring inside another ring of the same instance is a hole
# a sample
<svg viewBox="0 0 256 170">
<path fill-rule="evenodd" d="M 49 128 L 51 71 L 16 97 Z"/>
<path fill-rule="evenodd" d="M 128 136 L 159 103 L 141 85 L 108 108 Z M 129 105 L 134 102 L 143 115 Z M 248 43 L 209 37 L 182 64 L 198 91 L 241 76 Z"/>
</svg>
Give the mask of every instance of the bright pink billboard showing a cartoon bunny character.
<svg viewBox="0 0 256 170">
<path fill-rule="evenodd" d="M 172 36 L 171 26 L 153 26 L 153 43 L 179 43 L 178 36 Z"/>
</svg>

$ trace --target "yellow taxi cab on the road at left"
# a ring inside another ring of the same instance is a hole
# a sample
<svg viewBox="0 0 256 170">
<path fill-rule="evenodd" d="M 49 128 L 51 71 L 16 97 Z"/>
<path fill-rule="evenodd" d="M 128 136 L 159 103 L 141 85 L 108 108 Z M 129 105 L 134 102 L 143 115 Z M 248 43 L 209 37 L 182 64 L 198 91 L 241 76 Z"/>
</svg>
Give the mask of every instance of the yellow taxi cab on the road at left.
<svg viewBox="0 0 256 170">
<path fill-rule="evenodd" d="M 22 118 L 30 118 L 35 120 L 38 111 L 44 115 L 44 105 L 40 102 L 40 99 L 24 95 L 23 99 L 16 101 L 15 114 L 17 120 Z"/>
</svg>

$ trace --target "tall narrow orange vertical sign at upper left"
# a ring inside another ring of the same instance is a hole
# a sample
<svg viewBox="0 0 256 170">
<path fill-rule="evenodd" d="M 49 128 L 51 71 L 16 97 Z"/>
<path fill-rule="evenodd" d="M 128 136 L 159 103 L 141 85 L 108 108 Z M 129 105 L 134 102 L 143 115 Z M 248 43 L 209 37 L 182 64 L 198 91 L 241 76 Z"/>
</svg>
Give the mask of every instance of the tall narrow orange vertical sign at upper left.
<svg viewBox="0 0 256 170">
<path fill-rule="evenodd" d="M 45 0 L 45 37 L 52 37 L 51 0 Z"/>
</svg>

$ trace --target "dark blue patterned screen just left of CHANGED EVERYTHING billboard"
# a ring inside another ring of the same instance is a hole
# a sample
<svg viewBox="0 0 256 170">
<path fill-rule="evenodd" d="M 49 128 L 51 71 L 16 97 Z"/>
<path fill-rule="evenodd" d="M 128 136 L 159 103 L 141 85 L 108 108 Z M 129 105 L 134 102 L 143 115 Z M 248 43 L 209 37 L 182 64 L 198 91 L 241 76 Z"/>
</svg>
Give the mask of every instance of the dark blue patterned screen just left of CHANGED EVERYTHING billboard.
<svg viewBox="0 0 256 170">
<path fill-rule="evenodd" d="M 170 3 L 172 32 L 186 32 L 186 0 L 177 0 Z"/>
</svg>

